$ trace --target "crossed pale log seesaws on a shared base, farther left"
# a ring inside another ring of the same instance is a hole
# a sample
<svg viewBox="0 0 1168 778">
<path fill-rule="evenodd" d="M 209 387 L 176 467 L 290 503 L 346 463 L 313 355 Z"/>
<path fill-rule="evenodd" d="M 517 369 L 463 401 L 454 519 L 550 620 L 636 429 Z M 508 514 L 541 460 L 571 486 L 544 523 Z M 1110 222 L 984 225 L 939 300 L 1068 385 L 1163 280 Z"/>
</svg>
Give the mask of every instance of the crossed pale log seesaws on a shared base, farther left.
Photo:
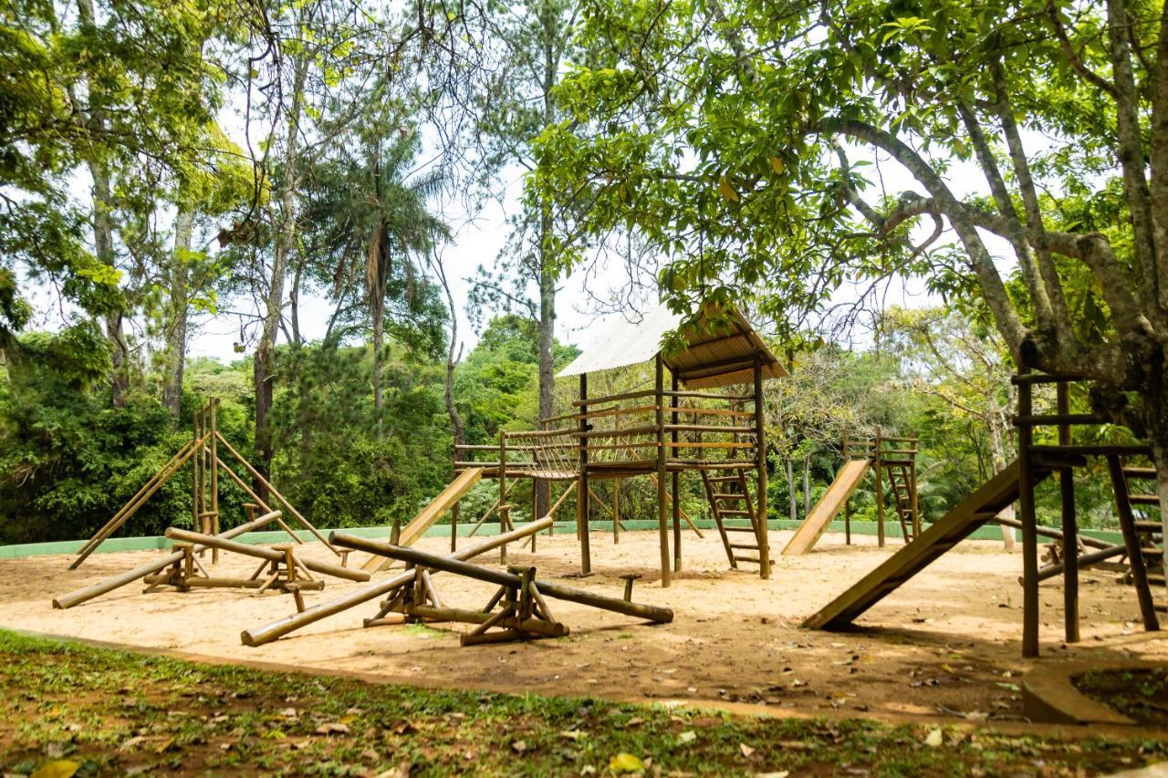
<svg viewBox="0 0 1168 778">
<path fill-rule="evenodd" d="M 300 591 L 324 586 L 324 582 L 314 579 L 312 572 L 347 578 L 349 581 L 369 581 L 369 574 L 363 570 L 353 570 L 336 564 L 301 560 L 293 553 L 291 544 L 278 548 L 264 548 L 239 543 L 234 540 L 241 535 L 262 529 L 273 521 L 278 522 L 279 517 L 279 510 L 271 510 L 253 521 L 239 525 L 218 535 L 207 535 L 204 533 L 194 533 L 171 527 L 166 530 L 166 536 L 178 541 L 175 549 L 171 554 L 132 570 L 119 572 L 91 586 L 57 597 L 53 600 L 53 607 L 72 607 L 74 605 L 79 605 L 95 597 L 100 597 L 114 589 L 141 579 L 150 588 L 168 585 L 182 590 L 193 588 L 239 588 L 255 589 L 256 593 L 260 593 L 269 589 L 277 589 L 291 592 L 296 597 L 297 607 L 304 610 Z M 206 549 L 217 549 L 250 556 L 263 560 L 263 564 L 251 578 L 213 577 L 203 569 L 195 556 Z M 269 567 L 267 577 L 260 579 L 260 574 Z M 304 574 L 304 577 L 301 577 L 300 572 L 297 572 L 298 570 Z"/>
</svg>

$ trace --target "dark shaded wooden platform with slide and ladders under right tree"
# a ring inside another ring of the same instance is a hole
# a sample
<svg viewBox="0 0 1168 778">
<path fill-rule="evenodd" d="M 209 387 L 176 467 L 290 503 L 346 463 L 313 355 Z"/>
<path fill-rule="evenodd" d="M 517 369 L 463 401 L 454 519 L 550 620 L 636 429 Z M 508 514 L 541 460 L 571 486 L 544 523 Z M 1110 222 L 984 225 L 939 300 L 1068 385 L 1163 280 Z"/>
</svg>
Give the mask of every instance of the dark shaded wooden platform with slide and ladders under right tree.
<svg viewBox="0 0 1168 778">
<path fill-rule="evenodd" d="M 1017 459 L 922 532 L 911 543 L 808 618 L 804 626 L 821 630 L 848 627 L 868 609 L 962 539 L 968 537 L 976 528 L 987 522 L 999 521 L 999 513 L 1017 501 L 1017 521 L 1002 520 L 1002 523 L 1017 526 L 1022 530 L 1022 654 L 1024 657 L 1038 654 L 1038 585 L 1041 581 L 1059 574 L 1063 576 L 1065 639 L 1068 642 L 1075 642 L 1079 639 L 1078 572 L 1080 567 L 1084 563 L 1093 564 L 1120 555 L 1128 560 L 1128 575 L 1135 590 L 1145 630 L 1159 630 L 1156 607 L 1148 584 L 1149 581 L 1163 582 L 1163 554 L 1161 548 L 1155 546 L 1155 541 L 1157 535 L 1162 537 L 1164 517 L 1161 516 L 1160 521 L 1138 519 L 1135 506 L 1156 506 L 1159 500 L 1152 494 L 1133 493 L 1131 487 L 1132 481 L 1154 478 L 1155 473 L 1152 468 L 1132 461 L 1133 459 L 1147 460 L 1152 453 L 1150 447 L 1143 444 L 1075 444 L 1073 426 L 1103 423 L 1103 419 L 1092 414 L 1070 412 L 1070 387 L 1076 381 L 1078 378 L 1073 376 L 1044 374 L 1015 376 L 1014 382 L 1018 388 L 1018 408 L 1014 419 L 1017 428 Z M 1043 384 L 1055 385 L 1056 408 L 1052 414 L 1034 412 L 1034 389 Z M 1050 443 L 1035 443 L 1035 430 L 1044 428 L 1055 428 L 1055 439 Z M 1092 547 L 1092 550 L 1085 551 L 1080 556 L 1078 551 L 1080 539 L 1075 513 L 1073 471 L 1076 467 L 1085 466 L 1090 457 L 1101 458 L 1106 461 L 1124 544 L 1118 547 L 1093 541 L 1086 543 Z M 1035 516 L 1035 486 L 1051 475 L 1058 477 L 1062 503 L 1062 526 L 1057 530 L 1040 528 Z M 1064 554 L 1061 560 L 1052 561 L 1045 570 L 1040 570 L 1038 567 L 1040 532 L 1056 537 L 1069 549 L 1069 553 Z M 1097 548 L 1098 546 L 1104 546 L 1104 548 Z M 1149 574 L 1149 567 L 1159 568 L 1159 576 L 1153 577 Z"/>
</svg>

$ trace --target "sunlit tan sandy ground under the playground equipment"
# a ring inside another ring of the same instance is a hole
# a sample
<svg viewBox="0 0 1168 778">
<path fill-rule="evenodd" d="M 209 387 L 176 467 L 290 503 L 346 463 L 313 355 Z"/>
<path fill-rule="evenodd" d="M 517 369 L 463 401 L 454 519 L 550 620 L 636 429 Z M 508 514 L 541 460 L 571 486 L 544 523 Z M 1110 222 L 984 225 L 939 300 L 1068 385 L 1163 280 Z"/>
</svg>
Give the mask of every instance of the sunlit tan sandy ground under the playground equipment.
<svg viewBox="0 0 1168 778">
<path fill-rule="evenodd" d="M 772 532 L 781 549 L 790 532 Z M 449 539 L 423 539 L 418 548 L 447 553 Z M 475 541 L 461 541 L 474 543 Z M 161 556 L 162 551 L 98 554 L 78 570 L 71 557 L 0 560 L 0 625 L 216 658 L 251 659 L 374 673 L 412 685 L 513 693 L 613 699 L 718 700 L 781 708 L 874 714 L 974 714 L 1017 718 L 1018 676 L 1034 665 L 1021 658 L 1022 557 L 1000 542 L 965 541 L 887 597 L 847 633 L 813 632 L 800 621 L 846 590 L 890 554 L 875 539 L 844 546 L 825 535 L 801 557 L 778 556 L 770 581 L 730 570 L 717 533 L 704 540 L 687 532 L 684 570 L 661 589 L 655 533 L 591 535 L 595 575 L 576 578 L 578 547 L 571 535 L 541 536 L 538 553 L 513 546 L 510 563 L 533 564 L 537 577 L 619 597 L 619 576 L 641 572 L 637 602 L 674 610 L 667 625 L 648 626 L 617 613 L 565 602 L 551 609 L 571 634 L 558 640 L 460 647 L 467 625 L 362 628 L 370 602 L 318 621 L 259 648 L 239 633 L 294 611 L 291 596 L 251 597 L 238 590 L 164 590 L 142 593 L 140 583 L 67 611 L 55 596 Z M 304 555 L 335 560 L 320 544 Z M 364 555 L 354 554 L 360 565 Z M 209 557 L 208 557 L 209 560 Z M 498 563 L 498 551 L 480 557 Z M 246 577 L 255 561 L 223 555 L 216 575 Z M 375 579 L 392 575 L 377 574 Z M 1084 571 L 1080 583 L 1083 641 L 1062 639 L 1062 584 L 1043 584 L 1043 655 L 1038 662 L 1098 658 L 1168 659 L 1164 633 L 1142 632 L 1133 591 L 1117 574 Z M 328 579 L 307 592 L 307 604 L 366 584 Z M 436 576 L 444 604 L 481 607 L 494 586 L 449 574 Z M 1161 592 L 1156 592 L 1161 596 Z"/>
</svg>

